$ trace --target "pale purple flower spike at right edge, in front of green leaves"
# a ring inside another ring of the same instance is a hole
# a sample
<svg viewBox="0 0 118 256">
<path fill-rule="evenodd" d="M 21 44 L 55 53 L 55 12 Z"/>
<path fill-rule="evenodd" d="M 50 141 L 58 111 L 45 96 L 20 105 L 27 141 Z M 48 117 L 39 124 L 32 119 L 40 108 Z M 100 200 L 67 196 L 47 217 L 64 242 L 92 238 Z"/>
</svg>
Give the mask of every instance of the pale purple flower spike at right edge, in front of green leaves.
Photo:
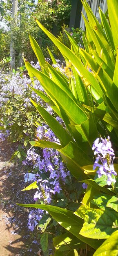
<svg viewBox="0 0 118 256">
<path fill-rule="evenodd" d="M 114 175 L 116 176 L 117 173 L 114 170 L 113 161 L 115 156 L 109 136 L 107 139 L 97 138 L 92 149 L 94 150 L 94 155 L 97 155 L 93 169 L 95 170 L 98 167 L 98 177 L 105 175 L 107 184 L 110 186 L 112 182 L 116 182 Z"/>
</svg>

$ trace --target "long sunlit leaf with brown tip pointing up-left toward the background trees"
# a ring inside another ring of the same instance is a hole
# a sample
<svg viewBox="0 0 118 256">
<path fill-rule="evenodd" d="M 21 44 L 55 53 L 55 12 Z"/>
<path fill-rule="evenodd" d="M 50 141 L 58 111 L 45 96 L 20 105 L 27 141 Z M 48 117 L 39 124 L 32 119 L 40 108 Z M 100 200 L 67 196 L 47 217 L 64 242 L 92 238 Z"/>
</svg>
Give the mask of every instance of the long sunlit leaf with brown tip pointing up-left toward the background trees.
<svg viewBox="0 0 118 256">
<path fill-rule="evenodd" d="M 49 36 L 49 38 L 53 41 L 53 43 L 58 47 L 62 55 L 66 56 L 71 63 L 73 64 L 74 67 L 76 67 L 76 71 L 78 72 L 79 76 L 81 78 L 85 77 L 89 83 L 94 87 L 96 92 L 98 92 L 98 95 L 102 97 L 102 90 L 96 81 L 95 77 L 87 70 L 86 67 L 82 64 L 80 61 L 80 58 L 78 58 L 69 48 L 67 48 L 65 45 L 63 45 L 55 36 L 53 36 L 45 27 L 42 26 L 42 24 L 36 20 L 38 23 L 39 27 Z"/>
</svg>

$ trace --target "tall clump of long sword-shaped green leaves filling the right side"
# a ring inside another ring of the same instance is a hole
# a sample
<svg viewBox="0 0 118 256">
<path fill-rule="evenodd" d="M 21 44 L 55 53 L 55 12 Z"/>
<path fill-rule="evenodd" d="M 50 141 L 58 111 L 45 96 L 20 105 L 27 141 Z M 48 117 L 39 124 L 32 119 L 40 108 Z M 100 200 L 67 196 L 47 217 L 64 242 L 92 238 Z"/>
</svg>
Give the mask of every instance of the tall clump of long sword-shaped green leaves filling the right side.
<svg viewBox="0 0 118 256">
<path fill-rule="evenodd" d="M 26 67 L 31 77 L 39 79 L 47 93 L 47 103 L 67 127 L 66 130 L 60 127 L 54 117 L 31 100 L 60 140 L 60 148 L 56 143 L 53 148 L 60 152 L 71 173 L 88 184 L 87 191 L 81 206 L 74 213 L 48 205 L 19 205 L 47 210 L 73 235 L 72 238 L 65 234 L 65 237 L 62 235 L 53 239 L 55 255 L 78 255 L 74 249 L 80 248 L 78 243 L 83 242 L 94 248 L 94 251 L 91 250 L 94 256 L 115 256 L 118 255 L 118 241 L 115 240 L 118 235 L 117 186 L 113 190 L 94 180 L 96 171 L 93 171 L 94 153 L 91 146 L 97 137 L 105 138 L 107 135 L 111 137 L 114 149 L 117 150 L 118 146 L 118 1 L 113 0 L 111 3 L 107 0 L 109 21 L 99 9 L 101 24 L 87 2 L 83 0 L 82 3 L 88 17 L 88 20 L 83 17 L 86 25 L 86 34 L 83 34 L 85 49 L 79 49 L 76 41 L 65 31 L 71 43 L 71 50 L 68 49 L 36 20 L 64 56 L 66 75 L 44 60 L 40 47 L 32 37 L 31 45 L 42 71 L 36 70 L 27 61 Z M 32 90 L 40 94 L 38 90 Z M 33 144 L 38 146 L 38 143 L 41 146 L 42 141 Z M 49 141 L 46 146 L 49 147 Z M 117 163 L 114 167 L 118 172 Z M 77 247 L 74 247 L 75 244 Z M 63 246 L 67 251 L 65 254 L 61 252 Z M 84 248 L 83 245 L 81 248 Z M 89 250 L 86 255 L 89 255 Z"/>
</svg>

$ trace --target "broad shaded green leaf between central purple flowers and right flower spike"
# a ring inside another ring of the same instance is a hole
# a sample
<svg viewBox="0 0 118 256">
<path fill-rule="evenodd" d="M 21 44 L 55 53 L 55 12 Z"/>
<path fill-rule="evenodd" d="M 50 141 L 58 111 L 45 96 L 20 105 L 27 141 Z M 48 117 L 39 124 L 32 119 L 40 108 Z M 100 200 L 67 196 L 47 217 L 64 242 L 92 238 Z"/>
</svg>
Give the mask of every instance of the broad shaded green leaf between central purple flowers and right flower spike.
<svg viewBox="0 0 118 256">
<path fill-rule="evenodd" d="M 84 151 L 82 151 L 78 146 L 76 146 L 76 144 L 71 141 L 67 146 L 58 151 L 60 152 L 62 159 L 66 163 L 73 176 L 75 176 L 77 179 L 80 179 L 80 177 L 86 177 L 81 166 L 85 162 L 90 164 L 91 159 Z"/>
</svg>

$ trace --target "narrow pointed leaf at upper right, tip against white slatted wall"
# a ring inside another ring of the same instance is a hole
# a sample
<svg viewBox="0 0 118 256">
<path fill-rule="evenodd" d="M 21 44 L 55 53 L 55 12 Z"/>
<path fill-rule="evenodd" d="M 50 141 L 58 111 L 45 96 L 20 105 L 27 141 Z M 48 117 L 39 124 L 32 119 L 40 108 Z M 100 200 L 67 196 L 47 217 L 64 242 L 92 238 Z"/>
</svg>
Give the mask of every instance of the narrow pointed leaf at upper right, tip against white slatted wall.
<svg viewBox="0 0 118 256">
<path fill-rule="evenodd" d="M 111 27 L 109 26 L 109 23 L 107 21 L 107 18 L 105 17 L 105 14 L 102 12 L 102 10 L 100 8 L 99 8 L 99 13 L 100 13 L 100 18 L 101 18 L 101 21 L 102 21 L 102 25 L 103 25 L 103 27 L 105 29 L 105 32 L 106 32 L 106 36 L 107 36 L 109 45 L 111 46 L 111 49 L 115 49 Z"/>
</svg>

